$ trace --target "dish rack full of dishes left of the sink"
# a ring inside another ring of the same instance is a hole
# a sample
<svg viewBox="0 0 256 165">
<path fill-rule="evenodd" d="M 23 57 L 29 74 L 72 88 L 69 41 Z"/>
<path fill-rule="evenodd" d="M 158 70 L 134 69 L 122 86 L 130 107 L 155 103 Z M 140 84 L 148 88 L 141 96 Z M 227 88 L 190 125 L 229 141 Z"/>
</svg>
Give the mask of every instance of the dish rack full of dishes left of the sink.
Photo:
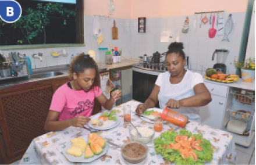
<svg viewBox="0 0 256 165">
<path fill-rule="evenodd" d="M 19 78 L 19 77 L 29 77 L 30 78 L 30 73 L 29 73 L 29 66 L 27 64 L 27 59 L 21 59 L 18 61 L 7 61 L 7 62 L 2 62 L 5 66 L 0 68 L 0 80 L 6 80 L 10 78 Z M 17 64 L 19 63 L 22 65 L 22 69 L 19 71 L 13 71 L 11 69 L 12 64 Z M 3 74 L 3 70 L 5 70 L 5 74 Z"/>
</svg>

